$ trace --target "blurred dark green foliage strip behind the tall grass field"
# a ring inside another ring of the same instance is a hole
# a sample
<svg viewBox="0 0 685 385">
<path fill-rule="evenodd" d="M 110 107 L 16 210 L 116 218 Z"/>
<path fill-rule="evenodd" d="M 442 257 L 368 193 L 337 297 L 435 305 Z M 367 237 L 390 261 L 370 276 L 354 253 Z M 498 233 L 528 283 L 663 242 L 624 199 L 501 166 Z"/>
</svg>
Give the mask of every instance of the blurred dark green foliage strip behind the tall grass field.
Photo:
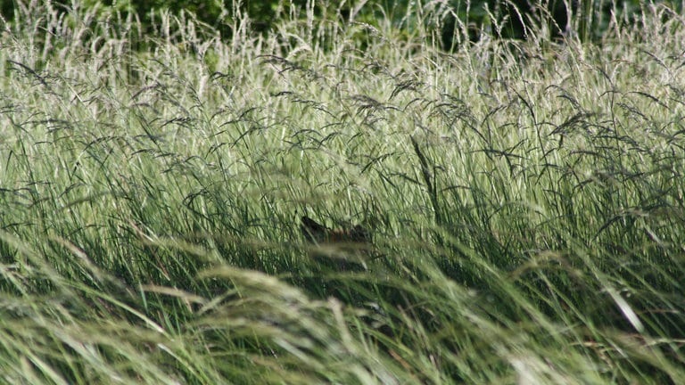
<svg viewBox="0 0 685 385">
<path fill-rule="evenodd" d="M 14 10 L 27 0 L 0 2 L 5 20 L 12 20 Z M 68 11 L 73 4 L 86 7 L 107 7 L 127 13 L 135 12 L 150 29 L 153 11 L 168 10 L 173 14 L 192 12 L 197 20 L 217 29 L 223 37 L 233 34 L 234 21 L 248 16 L 252 30 L 268 33 L 275 22 L 288 9 L 307 9 L 314 16 L 323 13 L 337 14 L 342 20 L 350 20 L 351 10 L 355 10 L 354 20 L 373 23 L 377 18 L 391 18 L 398 29 L 416 30 L 416 23 L 431 20 L 433 31 L 440 34 L 443 48 L 453 49 L 457 40 L 478 40 L 483 31 L 494 37 L 524 39 L 528 31 L 541 24 L 549 27 L 550 39 L 572 34 L 583 41 L 598 41 L 609 28 L 612 17 L 627 24 L 637 24 L 641 7 L 650 4 L 666 4 L 676 12 L 682 11 L 682 3 L 674 0 L 448 0 L 425 1 L 423 4 L 409 0 L 362 0 L 317 1 L 317 0 L 56 0 L 52 2 L 58 9 Z M 421 12 L 424 18 L 411 18 L 408 15 Z M 302 12 L 301 14 L 304 14 Z M 615 16 L 612 16 L 615 15 Z M 570 19 L 569 19 L 570 17 Z M 456 36 L 462 38 L 455 39 Z"/>
</svg>

